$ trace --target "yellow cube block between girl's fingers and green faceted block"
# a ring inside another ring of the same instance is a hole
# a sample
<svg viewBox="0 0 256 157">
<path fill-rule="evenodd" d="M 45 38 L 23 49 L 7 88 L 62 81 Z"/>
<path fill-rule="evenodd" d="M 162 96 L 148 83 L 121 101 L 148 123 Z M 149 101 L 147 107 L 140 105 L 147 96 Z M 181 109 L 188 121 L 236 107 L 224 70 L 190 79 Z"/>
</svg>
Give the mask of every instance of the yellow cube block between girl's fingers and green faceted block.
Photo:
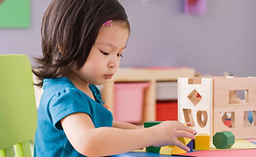
<svg viewBox="0 0 256 157">
<path fill-rule="evenodd" d="M 209 150 L 210 149 L 210 134 L 198 133 L 195 139 L 196 150 Z"/>
</svg>

